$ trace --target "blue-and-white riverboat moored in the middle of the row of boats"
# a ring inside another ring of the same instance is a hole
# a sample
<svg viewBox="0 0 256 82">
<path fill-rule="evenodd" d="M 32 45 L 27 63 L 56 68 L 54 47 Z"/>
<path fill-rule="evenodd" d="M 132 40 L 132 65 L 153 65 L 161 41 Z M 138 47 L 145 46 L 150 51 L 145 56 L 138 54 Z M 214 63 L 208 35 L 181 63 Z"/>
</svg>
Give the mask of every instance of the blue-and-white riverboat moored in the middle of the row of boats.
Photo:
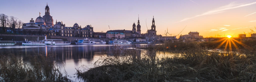
<svg viewBox="0 0 256 82">
<path fill-rule="evenodd" d="M 76 44 L 87 44 L 87 45 L 94 45 L 94 44 L 106 44 L 105 41 L 100 40 L 100 39 L 88 39 L 88 38 L 84 38 L 84 39 L 78 39 L 76 42 Z"/>
</svg>

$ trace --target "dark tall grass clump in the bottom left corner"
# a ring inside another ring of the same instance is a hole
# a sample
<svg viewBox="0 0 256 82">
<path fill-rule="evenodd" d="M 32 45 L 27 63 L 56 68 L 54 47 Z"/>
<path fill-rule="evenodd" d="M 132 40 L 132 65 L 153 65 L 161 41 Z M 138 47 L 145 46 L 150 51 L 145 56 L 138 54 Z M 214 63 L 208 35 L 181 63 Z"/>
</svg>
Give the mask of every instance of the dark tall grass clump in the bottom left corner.
<svg viewBox="0 0 256 82">
<path fill-rule="evenodd" d="M 30 57 L 25 63 L 15 56 L 0 56 L 1 82 L 70 82 L 51 57 Z"/>
</svg>

